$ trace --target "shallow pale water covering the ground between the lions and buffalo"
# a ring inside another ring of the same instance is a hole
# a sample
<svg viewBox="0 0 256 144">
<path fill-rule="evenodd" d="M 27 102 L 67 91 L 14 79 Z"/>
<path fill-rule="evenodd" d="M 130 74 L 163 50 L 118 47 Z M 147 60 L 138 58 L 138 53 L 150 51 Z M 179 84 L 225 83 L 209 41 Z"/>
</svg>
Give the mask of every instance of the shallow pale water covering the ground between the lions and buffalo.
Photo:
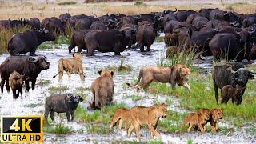
<svg viewBox="0 0 256 144">
<path fill-rule="evenodd" d="M 38 76 L 37 86 L 34 91 L 30 90 L 29 93 L 25 93 L 23 97 L 19 97 L 17 100 L 13 100 L 12 94 L 7 94 L 6 90 L 4 94 L 0 95 L 0 115 L 14 115 L 14 114 L 43 114 L 44 113 L 44 102 L 45 98 L 50 95 L 49 88 L 51 86 L 68 86 L 69 90 L 64 92 L 75 92 L 77 87 L 90 87 L 91 83 L 95 78 L 98 78 L 98 70 L 107 69 L 109 66 L 119 66 L 121 61 L 124 61 L 124 65 L 130 65 L 133 70 L 128 73 L 115 73 L 114 74 L 114 102 L 125 103 L 126 106 L 151 106 L 154 104 L 154 99 L 158 102 L 165 102 L 166 99 L 171 99 L 172 103 L 168 106 L 168 110 L 174 110 L 179 113 L 184 113 L 179 106 L 179 99 L 172 96 L 165 95 L 153 95 L 145 92 L 137 92 L 135 89 L 126 89 L 123 85 L 126 82 L 134 82 L 134 79 L 138 78 L 138 71 L 142 66 L 156 66 L 162 57 L 165 57 L 163 42 L 154 42 L 152 50 L 147 54 L 140 54 L 139 50 L 126 50 L 122 53 L 123 57 L 114 56 L 114 53 L 94 53 L 93 57 L 83 58 L 83 68 L 86 74 L 85 82 L 81 82 L 77 74 L 71 75 L 70 78 L 64 74 L 62 82 L 58 82 L 58 78 L 53 78 L 54 74 L 58 72 L 58 59 L 71 57 L 68 54 L 67 46 L 62 45 L 58 49 L 54 50 L 38 50 L 38 54 L 44 54 L 48 61 L 51 63 L 49 70 L 43 70 Z M 0 62 L 2 63 L 8 54 L 0 55 Z M 210 61 L 198 64 L 210 70 Z M 42 82 L 49 80 L 50 84 L 46 86 L 39 86 L 40 81 Z M 143 91 L 143 90 L 142 90 Z M 142 100 L 132 101 L 130 98 L 125 98 L 128 95 L 136 94 L 142 96 Z M 80 103 L 83 108 L 88 106 L 92 94 L 90 91 L 86 93 L 88 97 L 86 101 Z M 58 114 L 55 114 L 57 118 L 57 123 L 59 122 Z M 126 137 L 126 132 L 120 130 L 114 130 L 114 134 L 88 134 L 86 132 L 85 123 L 77 122 L 66 122 L 64 119 L 64 125 L 69 126 L 74 132 L 72 134 L 66 135 L 56 135 L 56 134 L 44 134 L 45 143 L 84 143 L 84 142 L 99 142 L 108 143 L 112 141 L 138 141 L 137 138 L 132 135 L 130 138 Z M 221 125 L 226 125 L 225 122 L 221 122 Z M 151 141 L 149 131 L 142 130 L 142 141 Z M 244 130 L 235 131 L 232 134 L 199 134 L 197 132 L 192 132 L 190 134 L 162 134 L 162 142 L 165 143 L 186 143 L 188 140 L 192 139 L 193 142 L 198 143 L 247 143 L 251 141 L 251 136 L 247 136 Z M 251 141 L 251 142 L 255 142 Z"/>
</svg>

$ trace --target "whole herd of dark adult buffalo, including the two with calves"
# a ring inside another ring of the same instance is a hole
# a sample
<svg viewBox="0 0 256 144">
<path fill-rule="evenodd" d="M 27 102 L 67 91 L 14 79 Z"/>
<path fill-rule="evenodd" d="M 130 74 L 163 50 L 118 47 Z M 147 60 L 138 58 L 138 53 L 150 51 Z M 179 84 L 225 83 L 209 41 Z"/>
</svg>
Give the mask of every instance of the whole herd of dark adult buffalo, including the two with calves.
<svg viewBox="0 0 256 144">
<path fill-rule="evenodd" d="M 149 52 L 150 46 L 159 36 L 158 32 L 163 32 L 166 46 L 176 49 L 170 52 L 192 50 L 198 58 L 214 56 L 214 59 L 225 58 L 237 62 L 256 58 L 256 14 L 238 14 L 218 8 L 163 10 L 137 15 L 105 14 L 99 17 L 66 13 L 58 18 L 44 18 L 42 22 L 38 18 L 0 20 L 0 30 L 18 26 L 30 26 L 31 29 L 14 34 L 8 40 L 6 49 L 10 57 L 0 66 L 2 92 L 4 85 L 10 91 L 8 81 L 14 71 L 24 75 L 26 90 L 30 89 L 29 82 L 32 82 L 34 90 L 38 74 L 50 66 L 45 56 L 35 54 L 37 47 L 42 42 L 54 41 L 55 36 L 60 34 L 70 37 L 69 53 L 72 50 L 86 50 L 86 56 L 94 55 L 95 50 L 120 55 L 126 48 L 137 46 L 141 52 L 145 51 L 146 46 L 146 52 Z M 68 35 L 68 30 L 74 30 L 74 33 Z M 24 55 L 26 53 L 30 55 Z M 253 78 L 250 71 L 242 69 L 243 66 L 237 69 L 232 67 L 217 66 L 213 70 L 217 102 L 218 88 L 229 84 L 246 86 L 248 79 Z M 234 78 L 237 78 L 235 82 Z M 224 79 L 226 82 L 222 82 Z"/>
</svg>

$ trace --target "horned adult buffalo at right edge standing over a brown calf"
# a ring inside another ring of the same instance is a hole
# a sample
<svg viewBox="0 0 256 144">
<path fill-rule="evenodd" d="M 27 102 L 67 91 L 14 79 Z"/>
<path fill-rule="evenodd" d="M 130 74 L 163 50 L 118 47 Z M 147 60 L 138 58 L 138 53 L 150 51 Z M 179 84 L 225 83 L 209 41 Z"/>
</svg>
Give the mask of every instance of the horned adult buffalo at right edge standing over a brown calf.
<svg viewBox="0 0 256 144">
<path fill-rule="evenodd" d="M 240 62 L 218 62 L 212 70 L 216 102 L 218 103 L 218 88 L 222 89 L 226 85 L 246 87 L 248 80 L 254 78 L 253 74 L 245 70 Z"/>
</svg>

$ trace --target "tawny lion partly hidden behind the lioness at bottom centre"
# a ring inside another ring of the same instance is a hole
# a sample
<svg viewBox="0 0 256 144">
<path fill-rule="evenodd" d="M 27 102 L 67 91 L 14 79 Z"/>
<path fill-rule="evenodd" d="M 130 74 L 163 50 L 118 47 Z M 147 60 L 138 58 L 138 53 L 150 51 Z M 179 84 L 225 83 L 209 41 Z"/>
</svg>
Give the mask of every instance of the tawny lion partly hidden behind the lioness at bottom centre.
<svg viewBox="0 0 256 144">
<path fill-rule="evenodd" d="M 129 110 L 125 108 L 119 108 L 114 111 L 114 117 L 112 119 L 112 122 L 110 123 L 110 129 L 116 125 L 116 123 L 119 121 L 118 129 L 122 130 L 122 123 L 125 122 L 125 129 L 128 129 L 129 125 Z"/>
</svg>

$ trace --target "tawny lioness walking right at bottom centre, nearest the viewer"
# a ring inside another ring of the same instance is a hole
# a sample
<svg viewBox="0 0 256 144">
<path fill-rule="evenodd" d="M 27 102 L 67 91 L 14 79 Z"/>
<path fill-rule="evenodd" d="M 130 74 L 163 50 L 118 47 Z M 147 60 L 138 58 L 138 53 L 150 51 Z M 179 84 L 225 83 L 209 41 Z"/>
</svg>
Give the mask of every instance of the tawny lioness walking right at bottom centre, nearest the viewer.
<svg viewBox="0 0 256 144">
<path fill-rule="evenodd" d="M 161 138 L 161 135 L 156 130 L 159 118 L 166 118 L 166 104 L 154 105 L 150 107 L 145 106 L 134 106 L 129 111 L 130 128 L 127 131 L 128 137 L 132 130 L 135 130 L 137 138 L 140 138 L 139 134 L 140 126 L 147 125 L 150 129 L 151 137 Z"/>
</svg>

